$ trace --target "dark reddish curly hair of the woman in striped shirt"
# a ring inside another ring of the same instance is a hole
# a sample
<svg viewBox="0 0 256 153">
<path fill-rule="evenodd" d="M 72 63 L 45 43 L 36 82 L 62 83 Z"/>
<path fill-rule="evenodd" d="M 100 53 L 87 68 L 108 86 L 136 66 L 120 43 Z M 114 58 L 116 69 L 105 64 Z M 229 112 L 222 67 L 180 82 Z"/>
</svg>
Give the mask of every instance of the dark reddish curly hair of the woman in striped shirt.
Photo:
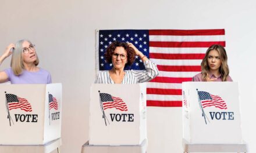
<svg viewBox="0 0 256 153">
<path fill-rule="evenodd" d="M 133 48 L 130 48 L 129 45 L 125 42 L 119 42 L 119 41 L 114 41 L 111 43 L 111 45 L 108 46 L 108 48 L 106 48 L 106 52 L 105 52 L 105 59 L 108 63 L 112 63 L 112 55 L 114 50 L 116 49 L 116 47 L 123 47 L 126 52 L 127 52 L 127 65 L 131 65 L 133 64 L 134 60 L 135 60 L 135 51 Z"/>
</svg>

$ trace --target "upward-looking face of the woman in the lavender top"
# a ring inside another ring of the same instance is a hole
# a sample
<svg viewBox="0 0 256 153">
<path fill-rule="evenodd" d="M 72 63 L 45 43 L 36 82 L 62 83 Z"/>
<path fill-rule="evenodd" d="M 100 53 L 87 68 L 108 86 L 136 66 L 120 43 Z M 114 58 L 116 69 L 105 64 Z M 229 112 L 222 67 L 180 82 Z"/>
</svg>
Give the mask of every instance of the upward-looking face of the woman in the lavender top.
<svg viewBox="0 0 256 153">
<path fill-rule="evenodd" d="M 34 46 L 29 42 L 24 41 L 22 44 L 22 48 L 23 62 L 27 64 L 34 63 L 34 61 L 37 60 L 37 53 L 35 53 Z"/>
</svg>

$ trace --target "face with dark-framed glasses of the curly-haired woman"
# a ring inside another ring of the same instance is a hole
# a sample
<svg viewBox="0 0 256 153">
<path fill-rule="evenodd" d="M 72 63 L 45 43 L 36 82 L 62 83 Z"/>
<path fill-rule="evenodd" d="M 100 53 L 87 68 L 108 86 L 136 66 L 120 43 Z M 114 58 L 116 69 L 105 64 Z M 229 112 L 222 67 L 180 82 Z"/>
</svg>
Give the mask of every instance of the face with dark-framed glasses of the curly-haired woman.
<svg viewBox="0 0 256 153">
<path fill-rule="evenodd" d="M 112 54 L 112 64 L 116 69 L 125 68 L 125 64 L 127 63 L 127 52 L 123 47 L 116 47 Z"/>
</svg>

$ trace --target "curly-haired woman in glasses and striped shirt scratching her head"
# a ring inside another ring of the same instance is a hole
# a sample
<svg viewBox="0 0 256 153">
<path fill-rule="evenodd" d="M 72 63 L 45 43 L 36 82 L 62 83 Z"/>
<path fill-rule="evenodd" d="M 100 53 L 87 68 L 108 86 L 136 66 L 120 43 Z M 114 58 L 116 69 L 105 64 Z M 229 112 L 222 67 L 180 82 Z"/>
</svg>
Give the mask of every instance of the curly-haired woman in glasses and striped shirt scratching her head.
<svg viewBox="0 0 256 153">
<path fill-rule="evenodd" d="M 133 64 L 135 56 L 140 57 L 146 70 L 124 70 L 126 65 Z M 113 68 L 101 72 L 95 83 L 142 83 L 154 79 L 159 73 L 157 65 L 148 60 L 132 43 L 118 41 L 111 43 L 106 49 L 105 58 L 108 63 L 113 64 Z"/>
</svg>

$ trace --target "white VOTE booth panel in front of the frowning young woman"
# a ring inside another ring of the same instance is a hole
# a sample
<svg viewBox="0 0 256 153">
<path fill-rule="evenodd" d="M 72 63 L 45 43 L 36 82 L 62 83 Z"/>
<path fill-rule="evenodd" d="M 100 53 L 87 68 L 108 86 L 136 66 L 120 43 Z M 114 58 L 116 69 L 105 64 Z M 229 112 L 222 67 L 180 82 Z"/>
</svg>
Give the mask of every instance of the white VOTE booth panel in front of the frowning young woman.
<svg viewBox="0 0 256 153">
<path fill-rule="evenodd" d="M 241 144 L 237 82 L 183 82 L 183 139 L 190 144 Z"/>
</svg>

